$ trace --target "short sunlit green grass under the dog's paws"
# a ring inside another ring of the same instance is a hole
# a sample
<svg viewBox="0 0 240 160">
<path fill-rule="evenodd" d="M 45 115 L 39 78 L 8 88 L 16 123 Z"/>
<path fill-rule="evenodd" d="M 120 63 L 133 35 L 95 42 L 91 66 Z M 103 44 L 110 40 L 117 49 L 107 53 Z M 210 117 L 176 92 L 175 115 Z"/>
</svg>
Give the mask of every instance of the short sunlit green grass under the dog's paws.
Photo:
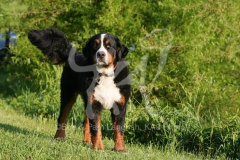
<svg viewBox="0 0 240 160">
<path fill-rule="evenodd" d="M 3 107 L 4 106 L 4 107 Z M 56 122 L 52 119 L 30 118 L 0 101 L 0 159 L 203 159 L 186 152 L 159 149 L 151 144 L 126 144 L 126 153 L 112 151 L 113 140 L 104 137 L 104 151 L 93 151 L 82 143 L 83 131 L 73 125 L 67 138 L 53 139 Z"/>
</svg>

